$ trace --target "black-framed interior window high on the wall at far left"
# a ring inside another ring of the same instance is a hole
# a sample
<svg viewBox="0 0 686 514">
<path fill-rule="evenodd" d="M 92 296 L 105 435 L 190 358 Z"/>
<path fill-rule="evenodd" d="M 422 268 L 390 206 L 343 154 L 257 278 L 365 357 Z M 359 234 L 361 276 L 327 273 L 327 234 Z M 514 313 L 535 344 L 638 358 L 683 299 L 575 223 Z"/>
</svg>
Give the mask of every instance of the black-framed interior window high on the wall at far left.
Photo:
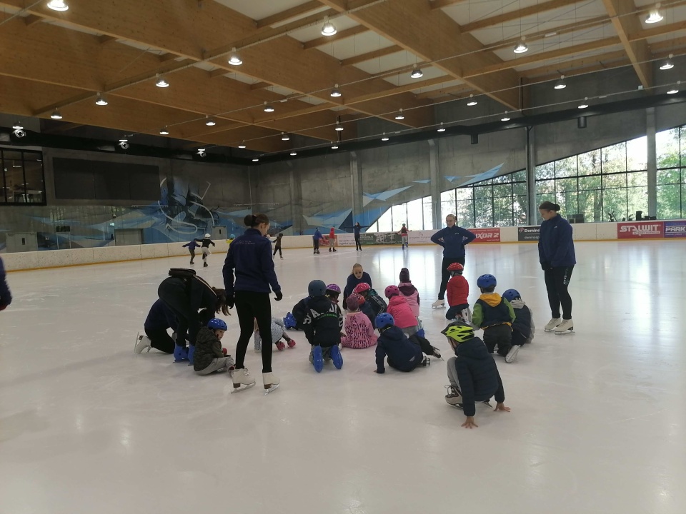
<svg viewBox="0 0 686 514">
<path fill-rule="evenodd" d="M 0 149 L 0 205 L 45 205 L 43 154 Z"/>
</svg>

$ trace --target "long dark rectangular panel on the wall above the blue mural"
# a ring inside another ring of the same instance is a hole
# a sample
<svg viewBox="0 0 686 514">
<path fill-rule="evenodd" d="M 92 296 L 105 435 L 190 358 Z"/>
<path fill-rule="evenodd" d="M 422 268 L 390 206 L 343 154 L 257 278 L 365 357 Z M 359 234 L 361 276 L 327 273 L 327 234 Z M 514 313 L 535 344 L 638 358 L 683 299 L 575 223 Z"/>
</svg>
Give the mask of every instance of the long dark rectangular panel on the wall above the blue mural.
<svg viewBox="0 0 686 514">
<path fill-rule="evenodd" d="M 55 198 L 159 200 L 159 169 L 144 164 L 53 158 Z"/>
</svg>

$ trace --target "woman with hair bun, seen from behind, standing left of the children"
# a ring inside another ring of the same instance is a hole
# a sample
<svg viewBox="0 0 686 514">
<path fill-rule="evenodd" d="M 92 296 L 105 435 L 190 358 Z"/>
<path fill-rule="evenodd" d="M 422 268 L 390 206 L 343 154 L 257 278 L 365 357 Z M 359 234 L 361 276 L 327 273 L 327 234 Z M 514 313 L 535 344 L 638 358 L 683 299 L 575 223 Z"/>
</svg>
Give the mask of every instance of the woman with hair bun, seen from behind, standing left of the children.
<svg viewBox="0 0 686 514">
<path fill-rule="evenodd" d="M 259 333 L 262 334 L 262 382 L 267 394 L 279 387 L 279 379 L 272 373 L 270 286 L 276 295 L 276 301 L 280 301 L 283 295 L 277 274 L 274 273 L 272 243 L 264 237 L 269 231 L 269 218 L 264 214 L 249 214 L 243 219 L 243 223 L 249 228 L 229 245 L 223 270 L 227 305 L 233 307 L 235 304 L 241 327 L 241 335 L 236 346 L 234 392 L 255 385 L 255 379 L 250 376 L 243 362 L 254 330 L 254 322 L 257 321 Z"/>
</svg>

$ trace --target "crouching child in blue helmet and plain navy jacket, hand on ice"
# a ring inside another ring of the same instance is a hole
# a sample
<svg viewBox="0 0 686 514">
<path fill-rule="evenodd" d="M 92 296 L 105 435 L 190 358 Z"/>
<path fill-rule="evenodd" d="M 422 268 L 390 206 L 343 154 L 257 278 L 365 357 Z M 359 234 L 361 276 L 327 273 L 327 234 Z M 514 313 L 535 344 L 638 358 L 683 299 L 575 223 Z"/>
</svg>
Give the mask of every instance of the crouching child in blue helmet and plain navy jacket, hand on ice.
<svg viewBox="0 0 686 514">
<path fill-rule="evenodd" d="M 374 373 L 386 373 L 384 358 L 388 357 L 388 365 L 398 371 L 412 371 L 417 366 L 427 366 L 429 359 L 422 355 L 419 344 L 410 341 L 402 333 L 402 329 L 395 326 L 393 316 L 381 313 L 375 320 L 379 330 L 377 340 L 377 368 Z"/>
</svg>

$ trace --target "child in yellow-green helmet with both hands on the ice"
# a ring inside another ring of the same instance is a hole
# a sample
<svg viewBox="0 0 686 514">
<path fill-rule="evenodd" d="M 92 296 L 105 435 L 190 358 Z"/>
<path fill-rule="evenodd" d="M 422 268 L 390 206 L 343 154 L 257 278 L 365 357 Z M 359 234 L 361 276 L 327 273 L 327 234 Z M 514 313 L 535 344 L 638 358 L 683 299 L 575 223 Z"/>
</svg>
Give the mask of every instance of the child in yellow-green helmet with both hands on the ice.
<svg viewBox="0 0 686 514">
<path fill-rule="evenodd" d="M 498 367 L 484 342 L 474 337 L 474 328 L 458 321 L 450 323 L 442 334 L 447 337 L 455 351 L 455 357 L 449 358 L 447 363 L 450 385 L 445 386 L 449 390 L 445 395 L 445 401 L 464 410 L 467 420 L 462 426 L 478 427 L 479 425 L 474 423 L 474 404 L 478 401 L 490 405 L 488 401 L 492 396 L 495 396 L 497 402 L 495 410 L 509 412 L 509 407 L 503 403 L 505 392 Z"/>
</svg>

